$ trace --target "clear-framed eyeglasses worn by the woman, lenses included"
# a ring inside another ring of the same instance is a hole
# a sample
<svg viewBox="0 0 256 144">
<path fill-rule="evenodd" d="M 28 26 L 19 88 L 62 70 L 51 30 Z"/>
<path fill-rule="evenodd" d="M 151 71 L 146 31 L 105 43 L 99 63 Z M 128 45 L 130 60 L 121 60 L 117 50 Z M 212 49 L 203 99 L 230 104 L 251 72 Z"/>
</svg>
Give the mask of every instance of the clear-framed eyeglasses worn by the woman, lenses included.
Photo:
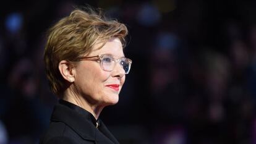
<svg viewBox="0 0 256 144">
<path fill-rule="evenodd" d="M 94 59 L 96 58 L 96 59 Z M 101 69 L 111 72 L 114 70 L 116 63 L 120 64 L 122 69 L 126 74 L 129 74 L 130 66 L 132 66 L 132 60 L 122 57 L 120 59 L 114 59 L 111 54 L 100 54 L 98 56 L 90 56 L 90 57 L 78 57 L 74 61 L 99 61 L 101 65 Z"/>
</svg>

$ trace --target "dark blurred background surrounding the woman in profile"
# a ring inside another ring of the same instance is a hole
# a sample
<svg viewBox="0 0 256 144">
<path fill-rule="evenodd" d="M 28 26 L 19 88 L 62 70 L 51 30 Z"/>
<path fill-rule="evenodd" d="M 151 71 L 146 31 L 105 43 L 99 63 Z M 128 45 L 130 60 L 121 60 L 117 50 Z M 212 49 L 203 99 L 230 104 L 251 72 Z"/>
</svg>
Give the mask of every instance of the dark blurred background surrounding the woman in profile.
<svg viewBox="0 0 256 144">
<path fill-rule="evenodd" d="M 0 8 L 0 144 L 38 143 L 57 98 L 46 30 L 74 6 L 126 23 L 132 59 L 101 119 L 120 143 L 256 143 L 256 1 L 25 0 Z"/>
</svg>

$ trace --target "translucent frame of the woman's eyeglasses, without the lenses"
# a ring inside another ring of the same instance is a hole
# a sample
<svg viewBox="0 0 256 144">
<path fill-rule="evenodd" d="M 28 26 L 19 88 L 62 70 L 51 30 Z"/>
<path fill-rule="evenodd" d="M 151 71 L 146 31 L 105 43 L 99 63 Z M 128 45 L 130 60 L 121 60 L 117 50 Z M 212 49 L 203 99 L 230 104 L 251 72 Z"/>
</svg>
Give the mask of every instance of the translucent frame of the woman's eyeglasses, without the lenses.
<svg viewBox="0 0 256 144">
<path fill-rule="evenodd" d="M 114 66 L 113 66 L 113 69 L 112 70 L 106 70 L 103 66 L 103 57 L 104 56 L 111 56 L 114 60 Z M 94 59 L 96 58 L 96 59 Z M 100 62 L 100 66 L 101 66 L 101 69 L 107 71 L 107 72 L 111 72 L 114 70 L 114 67 L 116 67 L 116 63 L 120 64 L 120 61 L 122 59 L 126 59 L 126 61 L 129 61 L 129 69 L 128 71 L 126 72 L 126 70 L 124 70 L 125 74 L 129 74 L 130 72 L 130 67 L 132 66 L 132 60 L 127 58 L 127 57 L 122 57 L 122 58 L 119 58 L 119 59 L 114 59 L 114 57 L 111 55 L 111 54 L 99 54 L 98 56 L 82 56 L 82 57 L 78 57 L 77 59 L 75 59 L 74 61 L 98 61 Z M 123 67 L 121 64 L 120 64 L 121 67 Z"/>
</svg>

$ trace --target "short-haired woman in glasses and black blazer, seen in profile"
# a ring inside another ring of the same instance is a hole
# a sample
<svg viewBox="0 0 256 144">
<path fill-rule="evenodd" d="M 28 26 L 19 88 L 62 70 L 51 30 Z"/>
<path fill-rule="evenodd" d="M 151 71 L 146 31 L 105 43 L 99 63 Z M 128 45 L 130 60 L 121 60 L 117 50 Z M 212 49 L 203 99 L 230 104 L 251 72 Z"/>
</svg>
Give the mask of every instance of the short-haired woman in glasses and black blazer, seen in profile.
<svg viewBox="0 0 256 144">
<path fill-rule="evenodd" d="M 92 9 L 75 9 L 49 30 L 46 74 L 60 100 L 40 143 L 118 143 L 98 117 L 117 103 L 129 73 L 126 35 L 124 24 Z"/>
</svg>

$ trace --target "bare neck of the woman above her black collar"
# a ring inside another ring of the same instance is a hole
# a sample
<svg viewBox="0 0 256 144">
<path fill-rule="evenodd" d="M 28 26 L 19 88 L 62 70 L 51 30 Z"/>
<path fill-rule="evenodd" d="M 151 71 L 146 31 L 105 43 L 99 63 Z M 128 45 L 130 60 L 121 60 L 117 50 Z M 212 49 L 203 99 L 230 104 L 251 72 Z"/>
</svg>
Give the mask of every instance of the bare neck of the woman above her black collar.
<svg viewBox="0 0 256 144">
<path fill-rule="evenodd" d="M 103 106 L 89 103 L 86 98 L 83 98 L 83 96 L 80 95 L 76 95 L 69 88 L 67 88 L 67 90 L 64 92 L 64 96 L 62 98 L 65 101 L 69 101 L 69 103 L 73 103 L 87 110 L 95 117 L 95 119 L 98 119 L 98 117 L 100 116 L 100 112 L 104 108 Z"/>
</svg>

